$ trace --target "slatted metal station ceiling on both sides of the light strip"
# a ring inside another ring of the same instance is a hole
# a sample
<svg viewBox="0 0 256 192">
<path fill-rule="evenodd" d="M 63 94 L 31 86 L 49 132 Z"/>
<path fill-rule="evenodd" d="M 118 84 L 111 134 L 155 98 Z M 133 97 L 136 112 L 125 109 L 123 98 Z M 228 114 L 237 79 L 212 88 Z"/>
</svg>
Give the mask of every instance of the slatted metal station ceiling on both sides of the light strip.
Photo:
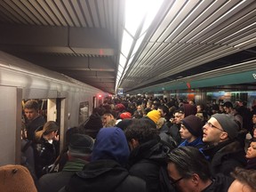
<svg viewBox="0 0 256 192">
<path fill-rule="evenodd" d="M 0 50 L 114 93 L 124 6 L 124 0 L 0 1 Z M 118 84 L 124 92 L 212 70 L 237 73 L 216 69 L 256 60 L 256 1 L 164 0 L 146 33 Z"/>
</svg>

